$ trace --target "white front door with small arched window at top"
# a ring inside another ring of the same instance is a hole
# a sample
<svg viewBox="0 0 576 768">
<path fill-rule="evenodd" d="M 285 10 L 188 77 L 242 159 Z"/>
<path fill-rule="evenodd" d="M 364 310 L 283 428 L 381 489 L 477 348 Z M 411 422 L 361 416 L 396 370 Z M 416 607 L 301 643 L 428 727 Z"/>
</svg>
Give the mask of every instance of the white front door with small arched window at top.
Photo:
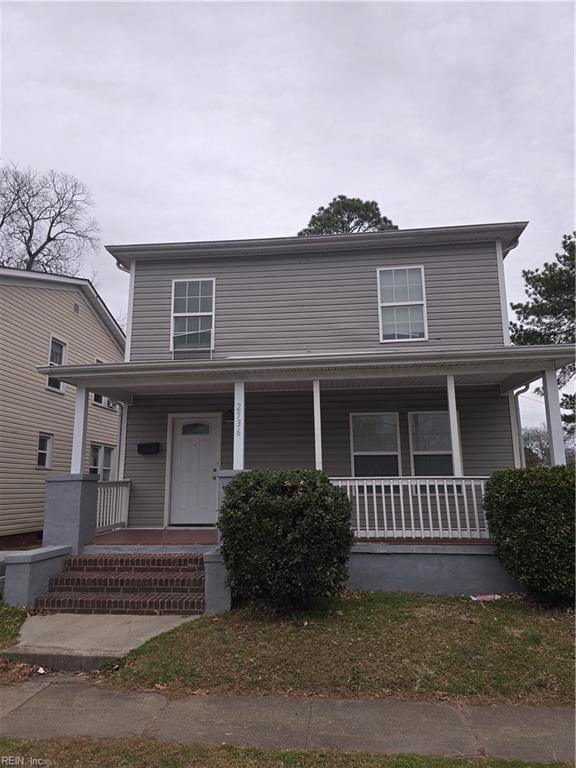
<svg viewBox="0 0 576 768">
<path fill-rule="evenodd" d="M 172 427 L 170 525 L 214 525 L 220 417 L 178 416 Z"/>
</svg>

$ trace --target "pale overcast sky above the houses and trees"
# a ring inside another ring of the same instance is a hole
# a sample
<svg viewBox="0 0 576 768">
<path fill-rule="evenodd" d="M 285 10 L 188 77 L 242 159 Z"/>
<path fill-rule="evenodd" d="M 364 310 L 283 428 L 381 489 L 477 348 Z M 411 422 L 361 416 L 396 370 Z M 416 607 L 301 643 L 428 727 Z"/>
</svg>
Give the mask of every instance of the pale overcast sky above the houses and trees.
<svg viewBox="0 0 576 768">
<path fill-rule="evenodd" d="M 336 194 L 401 228 L 529 220 L 506 259 L 519 299 L 574 227 L 573 14 L 5 3 L 2 160 L 84 181 L 103 243 L 291 235 Z M 103 248 L 91 262 L 125 315 L 126 278 Z"/>
</svg>

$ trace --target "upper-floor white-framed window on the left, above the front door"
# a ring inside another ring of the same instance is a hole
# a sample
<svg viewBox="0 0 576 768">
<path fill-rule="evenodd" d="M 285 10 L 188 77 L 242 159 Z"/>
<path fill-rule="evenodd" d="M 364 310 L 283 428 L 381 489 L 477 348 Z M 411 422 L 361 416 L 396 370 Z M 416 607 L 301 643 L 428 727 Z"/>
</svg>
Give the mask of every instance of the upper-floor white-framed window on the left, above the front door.
<svg viewBox="0 0 576 768">
<path fill-rule="evenodd" d="M 175 280 L 172 350 L 214 348 L 214 280 Z"/>
</svg>

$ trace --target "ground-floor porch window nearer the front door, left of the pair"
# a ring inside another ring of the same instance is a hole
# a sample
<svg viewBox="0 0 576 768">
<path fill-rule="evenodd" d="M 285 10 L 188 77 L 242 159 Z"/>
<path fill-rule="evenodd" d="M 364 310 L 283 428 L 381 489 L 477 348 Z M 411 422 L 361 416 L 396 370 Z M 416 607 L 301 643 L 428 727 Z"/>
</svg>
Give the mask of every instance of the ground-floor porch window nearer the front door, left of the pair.
<svg viewBox="0 0 576 768">
<path fill-rule="evenodd" d="M 350 415 L 354 477 L 397 477 L 400 439 L 397 413 Z"/>
</svg>

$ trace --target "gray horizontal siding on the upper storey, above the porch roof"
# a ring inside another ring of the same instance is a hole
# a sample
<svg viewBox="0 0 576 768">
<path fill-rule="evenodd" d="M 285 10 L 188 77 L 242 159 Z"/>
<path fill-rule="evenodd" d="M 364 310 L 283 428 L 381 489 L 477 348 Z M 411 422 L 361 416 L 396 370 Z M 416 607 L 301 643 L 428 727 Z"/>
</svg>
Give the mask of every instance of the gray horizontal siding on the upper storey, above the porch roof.
<svg viewBox="0 0 576 768">
<path fill-rule="evenodd" d="M 423 265 L 429 339 L 381 344 L 378 267 Z M 215 356 L 503 343 L 494 244 L 273 259 L 139 262 L 132 360 L 170 359 L 172 280 L 216 279 Z"/>
</svg>

